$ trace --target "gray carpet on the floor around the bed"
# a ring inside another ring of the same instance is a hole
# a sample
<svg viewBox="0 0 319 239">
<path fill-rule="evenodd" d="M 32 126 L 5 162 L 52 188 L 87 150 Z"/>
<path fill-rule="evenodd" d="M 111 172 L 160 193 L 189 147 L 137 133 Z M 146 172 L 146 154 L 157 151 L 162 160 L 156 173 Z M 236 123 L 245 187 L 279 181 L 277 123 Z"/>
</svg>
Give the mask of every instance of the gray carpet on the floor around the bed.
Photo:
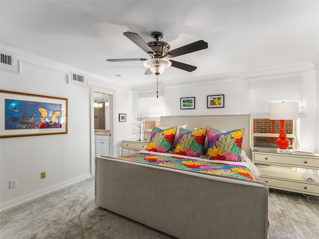
<svg viewBox="0 0 319 239">
<path fill-rule="evenodd" d="M 319 200 L 271 190 L 269 221 L 269 239 L 319 239 Z M 99 209 L 94 204 L 94 179 L 88 179 L 1 212 L 0 239 L 173 237 Z"/>
</svg>

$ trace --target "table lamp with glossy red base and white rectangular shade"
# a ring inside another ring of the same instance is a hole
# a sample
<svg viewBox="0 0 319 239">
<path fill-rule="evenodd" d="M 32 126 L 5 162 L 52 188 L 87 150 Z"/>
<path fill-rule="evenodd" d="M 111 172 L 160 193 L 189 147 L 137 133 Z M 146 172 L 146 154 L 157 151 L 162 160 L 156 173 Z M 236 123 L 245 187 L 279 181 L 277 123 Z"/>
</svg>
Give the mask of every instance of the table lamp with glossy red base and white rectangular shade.
<svg viewBox="0 0 319 239">
<path fill-rule="evenodd" d="M 288 152 L 290 140 L 287 139 L 285 123 L 287 119 L 298 119 L 298 102 L 282 102 L 269 105 L 269 119 L 279 119 L 281 130 L 277 139 L 277 152 Z"/>
</svg>

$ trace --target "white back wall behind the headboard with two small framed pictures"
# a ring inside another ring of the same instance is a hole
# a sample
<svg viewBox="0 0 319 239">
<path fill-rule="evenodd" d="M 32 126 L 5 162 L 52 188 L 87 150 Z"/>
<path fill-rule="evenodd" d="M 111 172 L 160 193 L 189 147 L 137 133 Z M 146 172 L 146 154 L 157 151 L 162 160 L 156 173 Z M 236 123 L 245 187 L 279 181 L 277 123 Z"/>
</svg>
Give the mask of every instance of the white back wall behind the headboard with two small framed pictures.
<svg viewBox="0 0 319 239">
<path fill-rule="evenodd" d="M 305 65 L 307 66 L 305 67 Z M 249 82 L 264 80 L 265 76 L 267 76 L 267 78 L 276 79 L 276 77 L 289 78 L 291 75 L 297 75 L 303 79 L 303 100 L 306 115 L 305 117 L 300 118 L 300 148 L 319 153 L 319 120 L 316 119 L 316 111 L 318 111 L 318 105 L 316 108 L 316 101 L 318 102 L 319 97 L 318 75 L 316 79 L 314 66 L 312 65 L 309 67 L 308 63 L 302 63 L 300 64 L 300 68 L 297 67 L 297 64 L 294 65 L 294 67 L 289 66 L 285 69 L 282 67 L 283 73 L 280 72 L 279 69 L 281 69 L 281 67 L 275 66 L 273 71 L 271 69 L 267 69 L 267 71 L 265 71 L 265 69 L 260 69 L 260 72 L 254 70 L 253 74 L 246 74 L 249 77 L 234 75 L 223 78 L 222 80 L 216 80 L 212 76 L 210 82 L 209 80 L 205 80 L 205 83 L 202 84 L 187 84 L 183 86 L 182 83 L 179 83 L 178 87 L 162 87 L 164 91 L 164 116 L 250 114 Z M 275 74 L 272 74 L 274 72 Z M 207 96 L 219 94 L 225 95 L 225 107 L 207 109 Z M 133 96 L 138 97 L 138 94 L 134 93 Z M 180 110 L 180 98 L 184 97 L 195 97 L 195 109 Z M 135 100 L 136 99 L 134 99 L 134 101 Z M 315 125 L 317 125 L 317 131 L 315 130 Z"/>
</svg>

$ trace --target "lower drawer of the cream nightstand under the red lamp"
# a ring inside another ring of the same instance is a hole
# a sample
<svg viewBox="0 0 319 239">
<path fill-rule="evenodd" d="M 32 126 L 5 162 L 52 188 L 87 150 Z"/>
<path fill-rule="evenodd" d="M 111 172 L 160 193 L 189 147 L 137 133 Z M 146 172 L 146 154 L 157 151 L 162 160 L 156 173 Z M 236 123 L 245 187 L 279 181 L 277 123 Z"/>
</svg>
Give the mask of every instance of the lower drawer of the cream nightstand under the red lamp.
<svg viewBox="0 0 319 239">
<path fill-rule="evenodd" d="M 317 183 L 310 184 L 266 177 L 260 177 L 258 181 L 266 182 L 269 188 L 319 196 L 319 184 Z"/>
</svg>

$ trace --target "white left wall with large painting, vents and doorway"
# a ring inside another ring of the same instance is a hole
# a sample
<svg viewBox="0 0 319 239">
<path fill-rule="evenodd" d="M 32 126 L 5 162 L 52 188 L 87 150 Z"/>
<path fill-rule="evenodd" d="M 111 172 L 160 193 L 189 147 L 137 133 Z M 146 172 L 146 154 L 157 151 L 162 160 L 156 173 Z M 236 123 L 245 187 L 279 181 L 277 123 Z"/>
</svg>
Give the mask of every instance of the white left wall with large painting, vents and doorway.
<svg viewBox="0 0 319 239">
<path fill-rule="evenodd" d="M 1 51 L 4 49 L 1 46 Z M 114 92 L 115 140 L 118 140 L 114 145 L 119 147 L 131 129 L 130 121 L 115 120 L 118 113 L 126 113 L 128 119 L 132 118 L 130 90 L 108 84 L 109 80 L 85 72 L 81 73 L 86 74 L 87 87 L 66 84 L 70 72 L 80 72 L 79 69 L 16 49 L 8 48 L 5 52 L 8 51 L 20 61 L 20 68 L 15 65 L 13 72 L 7 72 L 1 67 L 1 90 L 67 98 L 68 133 L 0 139 L 1 209 L 91 176 L 92 86 Z M 115 156 L 118 155 L 120 149 L 115 150 Z M 40 179 L 43 171 L 46 171 L 46 178 Z M 17 187 L 9 189 L 9 180 L 13 179 L 17 180 Z"/>
</svg>

